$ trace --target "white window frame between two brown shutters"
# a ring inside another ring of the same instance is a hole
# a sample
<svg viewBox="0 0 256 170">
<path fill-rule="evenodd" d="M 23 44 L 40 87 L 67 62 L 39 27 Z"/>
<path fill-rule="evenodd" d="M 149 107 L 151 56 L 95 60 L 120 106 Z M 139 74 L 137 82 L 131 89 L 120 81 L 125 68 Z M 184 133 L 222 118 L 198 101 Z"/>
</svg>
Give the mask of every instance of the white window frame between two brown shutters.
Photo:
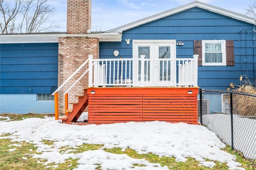
<svg viewBox="0 0 256 170">
<path fill-rule="evenodd" d="M 221 51 L 222 51 L 222 62 L 221 63 L 209 63 L 205 62 L 205 44 L 206 43 L 221 43 Z M 224 65 L 226 66 L 226 40 L 202 40 L 202 65 L 211 65 L 218 66 Z"/>
</svg>

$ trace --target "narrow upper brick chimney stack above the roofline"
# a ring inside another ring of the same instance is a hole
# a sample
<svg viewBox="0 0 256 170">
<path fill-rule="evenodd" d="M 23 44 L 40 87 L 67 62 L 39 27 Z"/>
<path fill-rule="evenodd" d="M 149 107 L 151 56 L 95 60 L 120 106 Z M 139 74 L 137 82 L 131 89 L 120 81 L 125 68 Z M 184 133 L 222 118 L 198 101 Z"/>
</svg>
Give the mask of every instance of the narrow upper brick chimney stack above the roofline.
<svg viewBox="0 0 256 170">
<path fill-rule="evenodd" d="M 67 34 L 87 34 L 91 30 L 91 0 L 68 0 Z"/>
</svg>

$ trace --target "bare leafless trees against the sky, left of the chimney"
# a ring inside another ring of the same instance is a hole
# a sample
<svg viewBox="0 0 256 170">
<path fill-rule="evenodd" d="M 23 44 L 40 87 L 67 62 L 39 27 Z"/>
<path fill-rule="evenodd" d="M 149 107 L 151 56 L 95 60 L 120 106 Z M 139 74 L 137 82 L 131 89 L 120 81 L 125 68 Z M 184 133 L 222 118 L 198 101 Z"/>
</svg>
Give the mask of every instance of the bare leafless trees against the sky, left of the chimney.
<svg viewBox="0 0 256 170">
<path fill-rule="evenodd" d="M 59 26 L 51 20 L 54 8 L 49 0 L 0 0 L 2 34 L 48 32 Z"/>
</svg>

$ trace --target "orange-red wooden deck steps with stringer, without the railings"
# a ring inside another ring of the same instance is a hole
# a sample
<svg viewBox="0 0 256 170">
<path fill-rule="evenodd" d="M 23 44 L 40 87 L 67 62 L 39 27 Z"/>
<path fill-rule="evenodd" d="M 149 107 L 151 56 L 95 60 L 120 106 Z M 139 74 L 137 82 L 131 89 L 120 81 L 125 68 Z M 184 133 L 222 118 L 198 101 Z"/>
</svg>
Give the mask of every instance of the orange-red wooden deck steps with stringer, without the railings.
<svg viewBox="0 0 256 170">
<path fill-rule="evenodd" d="M 73 110 L 67 110 L 67 115 L 64 117 L 60 117 L 62 123 L 71 123 L 76 122 L 80 115 L 83 113 L 84 109 L 88 106 L 88 94 L 87 89 L 84 89 L 83 96 L 77 96 L 78 103 L 73 104 Z"/>
</svg>

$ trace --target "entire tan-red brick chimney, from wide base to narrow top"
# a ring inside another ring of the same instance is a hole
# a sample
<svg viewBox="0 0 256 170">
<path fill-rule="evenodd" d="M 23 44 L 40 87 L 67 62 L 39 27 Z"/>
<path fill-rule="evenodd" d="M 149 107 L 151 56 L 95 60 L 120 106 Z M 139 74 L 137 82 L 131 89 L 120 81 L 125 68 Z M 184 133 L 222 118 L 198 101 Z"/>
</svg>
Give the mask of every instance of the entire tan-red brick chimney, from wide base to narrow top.
<svg viewBox="0 0 256 170">
<path fill-rule="evenodd" d="M 86 59 L 92 54 L 94 58 L 99 58 L 98 38 L 88 38 L 87 36 L 70 37 L 68 34 L 88 34 L 91 29 L 91 0 L 68 0 L 67 10 L 67 36 L 59 38 L 58 50 L 58 87 L 76 71 Z M 67 89 L 80 77 L 88 66 L 84 67 L 59 91 L 59 114 L 64 113 L 64 96 Z M 68 92 L 68 102 L 76 103 L 78 97 L 83 95 L 83 88 L 88 86 L 88 74 L 78 82 Z M 72 110 L 72 105 L 68 106 Z"/>
</svg>

